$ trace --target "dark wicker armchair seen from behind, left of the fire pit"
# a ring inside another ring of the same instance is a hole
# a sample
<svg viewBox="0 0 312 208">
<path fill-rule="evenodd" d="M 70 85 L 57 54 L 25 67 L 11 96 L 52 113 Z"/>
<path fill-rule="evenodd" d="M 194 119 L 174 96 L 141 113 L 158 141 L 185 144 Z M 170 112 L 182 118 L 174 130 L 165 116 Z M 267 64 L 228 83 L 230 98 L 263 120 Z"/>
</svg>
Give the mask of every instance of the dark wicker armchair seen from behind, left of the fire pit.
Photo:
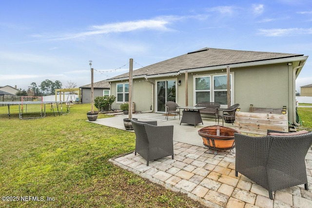
<svg viewBox="0 0 312 208">
<path fill-rule="evenodd" d="M 131 119 L 136 133 L 136 151 L 145 160 L 160 159 L 172 155 L 174 159 L 174 126 L 157 126 L 157 121 L 136 121 Z"/>
</svg>

